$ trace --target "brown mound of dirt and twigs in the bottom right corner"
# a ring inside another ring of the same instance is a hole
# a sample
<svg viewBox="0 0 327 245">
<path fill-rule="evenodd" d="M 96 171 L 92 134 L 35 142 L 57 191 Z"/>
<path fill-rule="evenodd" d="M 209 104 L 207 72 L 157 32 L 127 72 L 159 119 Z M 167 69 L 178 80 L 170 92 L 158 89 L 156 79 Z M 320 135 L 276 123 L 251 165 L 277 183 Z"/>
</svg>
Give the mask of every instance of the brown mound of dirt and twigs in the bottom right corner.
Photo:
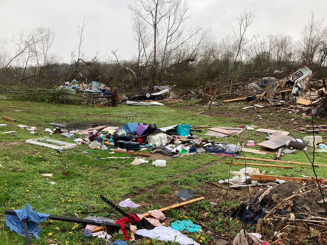
<svg viewBox="0 0 327 245">
<path fill-rule="evenodd" d="M 327 189 L 325 185 L 321 188 L 324 197 Z M 322 244 L 327 241 L 326 201 L 313 180 L 306 184 L 292 180 L 268 183 L 248 203 L 240 205 L 235 215 L 245 224 L 257 223 L 257 232 L 258 227 L 276 231 L 274 237 L 281 244 L 289 244 L 295 237 L 300 242 Z"/>
</svg>

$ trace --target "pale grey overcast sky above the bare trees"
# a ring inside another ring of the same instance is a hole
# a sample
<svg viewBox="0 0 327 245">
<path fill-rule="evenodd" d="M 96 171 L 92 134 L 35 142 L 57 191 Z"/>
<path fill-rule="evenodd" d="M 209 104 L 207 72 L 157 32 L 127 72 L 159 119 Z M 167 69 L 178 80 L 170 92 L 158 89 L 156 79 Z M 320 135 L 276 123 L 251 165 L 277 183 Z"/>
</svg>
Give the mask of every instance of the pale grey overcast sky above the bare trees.
<svg viewBox="0 0 327 245">
<path fill-rule="evenodd" d="M 0 0 L 0 40 L 10 41 L 19 30 L 41 27 L 55 34 L 51 53 L 63 62 L 78 45 L 76 28 L 83 17 L 88 19 L 85 31 L 86 55 L 99 51 L 109 57 L 118 50 L 120 59 L 135 53 L 132 42 L 131 14 L 126 6 L 131 0 Z M 256 17 L 248 36 L 255 34 L 289 34 L 300 37 L 311 11 L 322 19 L 327 9 L 326 0 L 189 0 L 191 18 L 188 26 L 211 28 L 217 40 L 232 34 L 231 23 L 245 7 L 255 5 Z"/>
</svg>

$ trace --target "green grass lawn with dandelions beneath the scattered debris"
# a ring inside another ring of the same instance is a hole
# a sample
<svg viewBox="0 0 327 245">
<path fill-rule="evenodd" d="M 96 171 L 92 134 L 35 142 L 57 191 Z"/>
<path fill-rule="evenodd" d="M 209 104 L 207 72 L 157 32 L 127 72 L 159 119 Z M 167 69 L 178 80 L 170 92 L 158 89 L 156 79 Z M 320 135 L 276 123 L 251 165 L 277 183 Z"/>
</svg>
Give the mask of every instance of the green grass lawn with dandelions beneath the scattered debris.
<svg viewBox="0 0 327 245">
<path fill-rule="evenodd" d="M 232 104 L 238 105 L 238 104 Z M 228 106 L 232 106 L 228 105 Z M 205 183 L 197 179 L 204 179 L 210 182 L 217 182 L 220 179 L 228 177 L 228 171 L 239 170 L 242 166 L 227 165 L 225 162 L 230 161 L 230 157 L 221 157 L 212 154 L 194 155 L 184 158 L 172 159 L 167 161 L 167 167 L 157 168 L 151 164 L 142 164 L 139 166 L 130 165 L 132 160 L 97 160 L 96 157 L 106 156 L 126 156 L 123 153 L 109 154 L 105 151 L 90 151 L 84 154 L 83 149 L 88 146 L 78 146 L 76 149 L 66 150 L 63 154 L 58 154 L 55 150 L 25 143 L 26 139 L 50 137 L 52 139 L 73 142 L 72 139 L 63 138 L 60 135 L 49 135 L 44 132 L 45 128 L 50 127 L 49 122 L 67 122 L 74 121 L 82 123 L 87 121 L 112 122 L 115 125 L 125 124 L 130 121 L 146 122 L 148 124 L 157 124 L 158 127 L 188 123 L 194 126 L 212 125 L 212 126 L 244 126 L 247 124 L 260 127 L 277 127 L 283 130 L 281 125 L 278 126 L 276 117 L 265 115 L 265 123 L 261 124 L 258 117 L 249 112 L 238 116 L 240 108 L 229 108 L 228 106 L 214 107 L 213 113 L 219 116 L 200 116 L 196 115 L 201 105 L 198 101 L 181 104 L 168 104 L 165 106 L 152 107 L 132 107 L 119 105 L 115 108 L 79 106 L 79 105 L 55 105 L 40 102 L 23 102 L 23 101 L 0 101 L 0 114 L 15 118 L 16 122 L 4 121 L 0 118 L 0 124 L 8 126 L 0 127 L 0 133 L 15 130 L 13 134 L 0 134 L 0 243 L 1 244 L 24 244 L 24 237 L 10 232 L 4 222 L 4 209 L 6 208 L 23 208 L 26 203 L 30 203 L 38 212 L 85 217 L 87 215 L 108 216 L 108 209 L 105 203 L 98 198 L 102 193 L 111 201 L 118 203 L 128 197 L 133 197 L 133 201 L 140 203 L 141 208 L 136 212 L 142 213 L 153 207 L 162 207 L 167 204 L 162 197 L 172 203 L 181 200 L 174 197 L 174 190 L 180 188 L 189 188 L 196 190 L 198 194 L 207 197 L 206 202 L 190 205 L 183 210 L 171 211 L 172 220 L 178 218 L 181 213 L 193 215 L 196 222 L 196 210 L 199 206 L 211 210 L 207 207 L 209 201 L 219 202 L 223 199 L 213 199 L 213 191 L 207 189 Z M 20 111 L 15 111 L 20 110 Z M 235 116 L 224 116 L 221 112 L 235 112 Z M 126 114 L 135 116 L 133 120 L 127 120 Z M 241 111 L 240 111 L 241 113 Z M 269 111 L 267 112 L 269 114 Z M 278 118 L 285 121 L 296 118 L 296 121 L 302 121 L 302 125 L 286 125 L 291 133 L 295 136 L 305 136 L 294 131 L 296 127 L 310 124 L 310 120 L 301 119 L 299 114 L 283 113 L 277 115 Z M 325 120 L 319 119 L 317 124 L 326 124 Z M 38 128 L 37 134 L 30 134 L 26 129 L 20 129 L 17 125 L 35 126 Z M 52 128 L 52 127 L 50 127 Z M 206 130 L 197 135 L 202 136 Z M 227 138 L 218 138 L 216 141 L 229 141 L 236 143 L 239 141 L 247 142 L 249 139 L 263 141 L 266 134 L 256 133 L 254 131 L 244 131 L 239 136 Z M 325 134 L 322 134 L 325 139 Z M 205 136 L 208 138 L 209 136 Z M 308 153 L 312 158 L 312 154 Z M 245 156 L 273 158 L 273 155 L 258 155 L 245 153 Z M 283 156 L 283 160 L 309 162 L 303 152 L 288 154 Z M 326 153 L 317 153 L 315 156 L 316 163 L 327 164 Z M 151 161 L 150 161 L 151 163 Z M 267 162 L 260 162 L 266 163 Z M 278 164 L 278 163 L 275 163 Z M 287 165 L 281 163 L 280 165 Z M 291 165 L 292 169 L 259 167 L 265 170 L 266 174 L 284 175 L 301 177 L 301 175 L 313 176 L 311 166 Z M 319 177 L 327 178 L 327 169 L 317 167 L 316 172 Z M 52 173 L 52 178 L 42 177 L 43 173 Z M 51 184 L 50 181 L 56 182 Z M 219 188 L 218 188 L 219 189 Z M 222 187 L 223 189 L 223 187 Z M 219 190 L 217 190 L 219 191 Z M 237 205 L 239 200 L 228 200 L 230 205 Z M 190 211 L 191 210 L 191 211 Z M 129 210 L 130 212 L 134 210 Z M 111 211 L 112 212 L 112 211 Z M 135 211 L 134 211 L 135 212 Z M 213 215 L 213 214 L 209 214 Z M 112 217 L 112 216 L 110 216 Z M 114 217 L 113 217 L 114 218 Z M 207 229 L 217 233 L 223 233 L 228 228 L 224 225 L 226 219 L 222 216 L 215 222 L 208 222 Z M 229 223 L 232 223 L 229 222 Z M 48 244 L 45 240 L 56 240 L 58 244 L 105 244 L 104 240 L 99 238 L 87 238 L 83 235 L 83 229 L 72 229 L 74 224 L 64 222 L 46 221 L 41 224 L 42 232 L 39 233 L 40 239 L 32 242 L 35 244 Z M 225 228 L 224 228 L 225 227 Z M 236 229 L 240 224 L 235 224 Z M 48 236 L 52 233 L 51 236 Z M 233 234 L 233 231 L 231 232 Z M 116 237 L 122 238 L 120 235 Z M 212 235 L 208 235 L 208 242 Z M 145 239 L 137 242 L 138 244 L 149 244 Z M 153 244 L 160 244 L 152 241 Z"/>
</svg>

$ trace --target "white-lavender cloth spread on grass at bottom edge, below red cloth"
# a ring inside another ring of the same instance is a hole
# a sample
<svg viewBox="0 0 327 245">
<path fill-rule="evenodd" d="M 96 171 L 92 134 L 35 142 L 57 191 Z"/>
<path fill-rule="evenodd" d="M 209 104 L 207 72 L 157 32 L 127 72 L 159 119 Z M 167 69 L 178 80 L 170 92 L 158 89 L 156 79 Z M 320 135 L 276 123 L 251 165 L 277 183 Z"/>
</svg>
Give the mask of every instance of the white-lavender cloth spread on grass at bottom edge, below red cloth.
<svg viewBox="0 0 327 245">
<path fill-rule="evenodd" d="M 141 229 L 136 231 L 137 235 L 146 236 L 150 238 L 156 238 L 161 241 L 176 241 L 181 245 L 195 244 L 199 245 L 196 241 L 183 235 L 179 231 L 174 230 L 171 227 L 158 226 L 153 230 Z"/>
</svg>

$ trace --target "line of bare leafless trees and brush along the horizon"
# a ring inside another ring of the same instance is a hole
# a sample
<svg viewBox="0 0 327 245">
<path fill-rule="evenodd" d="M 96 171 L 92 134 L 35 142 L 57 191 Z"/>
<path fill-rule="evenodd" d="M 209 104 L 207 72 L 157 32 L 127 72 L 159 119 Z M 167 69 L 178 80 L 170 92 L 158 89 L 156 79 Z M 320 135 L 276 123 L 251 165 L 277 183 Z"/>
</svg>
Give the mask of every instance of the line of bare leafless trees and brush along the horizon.
<svg viewBox="0 0 327 245">
<path fill-rule="evenodd" d="M 186 0 L 134 0 L 127 8 L 135 47 L 130 60 L 120 60 L 118 50 L 111 51 L 109 60 L 85 54 L 84 18 L 76 30 L 70 63 L 61 63 L 51 52 L 56 37 L 49 28 L 20 31 L 12 40 L 1 41 L 0 82 L 49 86 L 76 79 L 121 88 L 159 84 L 192 88 L 206 81 L 228 81 L 231 93 L 244 74 L 286 76 L 288 70 L 306 65 L 325 76 L 327 26 L 313 13 L 296 41 L 287 34 L 247 35 L 256 19 L 254 7 L 246 8 L 236 16 L 232 35 L 217 41 L 211 30 L 186 28 L 192 18 Z"/>
</svg>

